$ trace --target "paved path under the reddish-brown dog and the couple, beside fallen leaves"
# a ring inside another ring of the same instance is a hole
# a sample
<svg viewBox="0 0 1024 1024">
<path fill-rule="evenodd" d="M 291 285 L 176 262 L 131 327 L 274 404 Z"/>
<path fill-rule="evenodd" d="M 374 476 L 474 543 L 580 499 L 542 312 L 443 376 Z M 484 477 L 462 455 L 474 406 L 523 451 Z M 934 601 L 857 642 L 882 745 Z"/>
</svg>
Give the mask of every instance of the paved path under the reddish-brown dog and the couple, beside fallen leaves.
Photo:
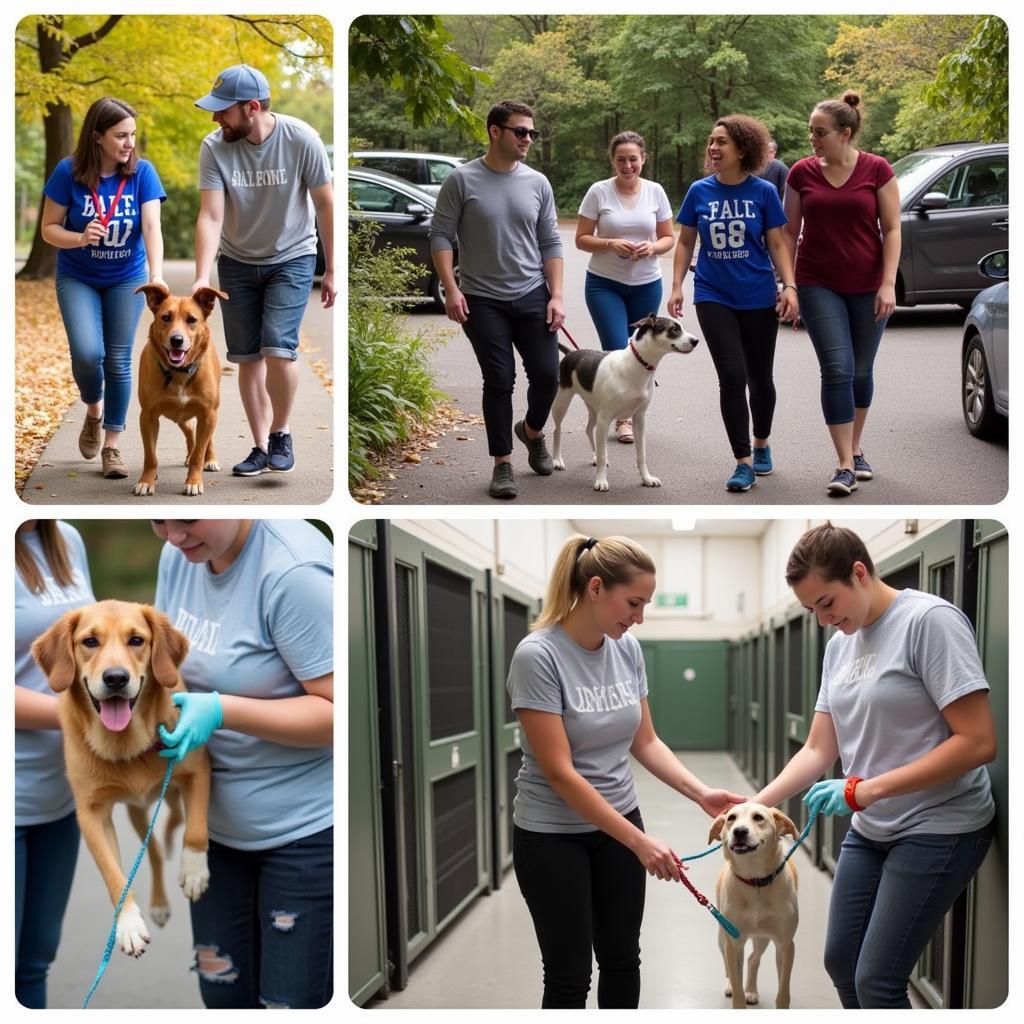
<svg viewBox="0 0 1024 1024">
<path fill-rule="evenodd" d="M 175 293 L 186 292 L 193 282 L 194 267 L 187 260 L 165 264 L 164 275 Z M 145 345 L 153 315 L 142 313 L 135 337 L 134 366 Z M 319 289 L 309 296 L 302 334 L 317 351 L 312 357 L 332 361 L 333 310 L 324 309 Z M 214 341 L 221 360 L 220 416 L 217 423 L 216 450 L 219 473 L 204 474 L 204 494 L 187 498 L 181 494 L 185 481 L 184 438 L 176 424 L 161 420 L 157 452 L 160 480 L 154 498 L 136 498 L 132 485 L 142 470 L 142 441 L 138 433 L 138 398 L 133 391 L 128 407 L 128 430 L 121 438 L 121 454 L 128 466 L 125 480 L 106 480 L 99 469 L 98 456 L 92 462 L 82 459 L 78 434 L 85 407 L 76 402 L 67 413 L 54 435 L 36 463 L 22 500 L 29 504 L 48 505 L 130 505 L 140 511 L 160 505 L 318 505 L 331 497 L 334 486 L 333 401 L 319 378 L 300 353 L 299 391 L 291 429 L 295 437 L 295 469 L 291 473 L 263 473 L 257 477 L 232 476 L 230 467 L 241 462 L 253 445 L 252 435 L 239 396 L 234 364 L 225 357 L 223 325 L 218 312 L 212 321 Z"/>
</svg>

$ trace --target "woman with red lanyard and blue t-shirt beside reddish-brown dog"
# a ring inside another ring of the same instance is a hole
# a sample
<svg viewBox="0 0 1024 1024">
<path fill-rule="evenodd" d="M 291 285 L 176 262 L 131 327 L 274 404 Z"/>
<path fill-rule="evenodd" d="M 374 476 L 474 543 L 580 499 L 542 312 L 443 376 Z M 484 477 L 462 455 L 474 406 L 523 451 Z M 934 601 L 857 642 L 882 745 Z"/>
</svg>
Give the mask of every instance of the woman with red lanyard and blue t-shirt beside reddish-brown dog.
<svg viewBox="0 0 1024 1024">
<path fill-rule="evenodd" d="M 78 447 L 109 479 L 128 475 L 118 441 L 131 397 L 131 349 L 146 280 L 163 284 L 156 168 L 135 148 L 135 112 L 103 96 L 85 115 L 75 152 L 43 193 L 42 236 L 57 253 L 56 293 L 85 423 Z M 148 279 L 146 264 L 148 263 Z M 100 433 L 102 428 L 102 438 Z"/>
</svg>

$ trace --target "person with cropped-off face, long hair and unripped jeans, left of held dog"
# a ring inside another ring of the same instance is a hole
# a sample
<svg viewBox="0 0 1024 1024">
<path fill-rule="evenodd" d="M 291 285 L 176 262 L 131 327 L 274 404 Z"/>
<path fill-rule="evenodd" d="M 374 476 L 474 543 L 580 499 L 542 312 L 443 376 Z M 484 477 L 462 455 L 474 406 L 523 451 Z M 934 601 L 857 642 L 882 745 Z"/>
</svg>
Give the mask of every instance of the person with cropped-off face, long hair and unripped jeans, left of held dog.
<svg viewBox="0 0 1024 1024">
<path fill-rule="evenodd" d="M 57 696 L 32 656 L 32 643 L 66 611 L 94 598 L 85 546 L 67 523 L 22 523 L 14 564 L 14 996 L 23 1007 L 44 1010 L 79 830 Z"/>
</svg>

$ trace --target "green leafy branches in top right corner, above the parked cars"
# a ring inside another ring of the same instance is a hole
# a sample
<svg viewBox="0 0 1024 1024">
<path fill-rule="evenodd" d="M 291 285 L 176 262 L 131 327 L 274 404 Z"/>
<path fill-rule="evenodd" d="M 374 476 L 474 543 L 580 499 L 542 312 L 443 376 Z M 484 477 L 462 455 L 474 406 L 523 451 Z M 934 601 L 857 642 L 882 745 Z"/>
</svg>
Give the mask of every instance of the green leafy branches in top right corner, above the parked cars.
<svg viewBox="0 0 1024 1024">
<path fill-rule="evenodd" d="M 994 14 L 981 18 L 963 49 L 939 61 L 925 93 L 933 111 L 952 108 L 967 137 L 1005 141 L 1010 130 L 1010 35 Z"/>
</svg>

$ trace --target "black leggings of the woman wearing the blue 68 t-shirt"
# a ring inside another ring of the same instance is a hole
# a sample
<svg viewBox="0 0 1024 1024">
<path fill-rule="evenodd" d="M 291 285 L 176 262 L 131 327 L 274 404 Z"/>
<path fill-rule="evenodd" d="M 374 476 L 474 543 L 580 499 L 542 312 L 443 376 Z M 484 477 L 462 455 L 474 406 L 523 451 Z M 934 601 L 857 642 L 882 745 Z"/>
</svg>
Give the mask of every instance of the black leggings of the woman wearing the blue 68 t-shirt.
<svg viewBox="0 0 1024 1024">
<path fill-rule="evenodd" d="M 737 459 L 751 455 L 751 419 L 754 436 L 767 437 L 775 415 L 775 309 L 733 309 L 718 302 L 694 306 L 705 341 L 718 372 L 722 422 L 732 454 Z M 746 391 L 751 392 L 750 411 Z"/>
</svg>

